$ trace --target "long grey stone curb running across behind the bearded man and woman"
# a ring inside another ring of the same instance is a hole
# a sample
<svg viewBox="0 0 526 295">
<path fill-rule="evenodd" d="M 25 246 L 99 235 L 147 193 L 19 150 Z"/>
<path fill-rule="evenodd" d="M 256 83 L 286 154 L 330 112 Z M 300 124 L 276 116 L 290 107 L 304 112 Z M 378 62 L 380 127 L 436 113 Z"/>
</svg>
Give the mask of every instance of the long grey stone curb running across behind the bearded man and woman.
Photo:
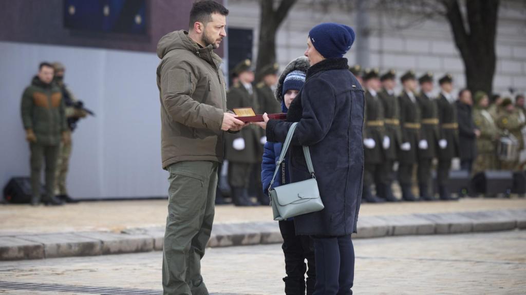
<svg viewBox="0 0 526 295">
<path fill-rule="evenodd" d="M 477 233 L 526 228 L 526 210 L 364 216 L 353 238 Z M 0 261 L 162 250 L 164 228 L 0 235 Z M 216 224 L 208 247 L 281 243 L 277 222 Z"/>
</svg>

